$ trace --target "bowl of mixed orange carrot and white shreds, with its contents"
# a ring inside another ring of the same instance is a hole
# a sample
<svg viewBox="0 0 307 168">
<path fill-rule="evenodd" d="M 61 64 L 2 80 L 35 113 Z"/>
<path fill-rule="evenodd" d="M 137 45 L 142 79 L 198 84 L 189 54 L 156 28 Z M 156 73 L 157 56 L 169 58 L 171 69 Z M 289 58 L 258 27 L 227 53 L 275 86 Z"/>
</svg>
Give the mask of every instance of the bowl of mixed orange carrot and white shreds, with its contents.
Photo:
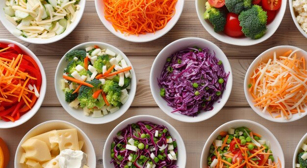
<svg viewBox="0 0 307 168">
<path fill-rule="evenodd" d="M 252 109 L 275 122 L 290 122 L 307 115 L 307 52 L 278 46 L 261 53 L 250 65 L 244 92 Z"/>
</svg>

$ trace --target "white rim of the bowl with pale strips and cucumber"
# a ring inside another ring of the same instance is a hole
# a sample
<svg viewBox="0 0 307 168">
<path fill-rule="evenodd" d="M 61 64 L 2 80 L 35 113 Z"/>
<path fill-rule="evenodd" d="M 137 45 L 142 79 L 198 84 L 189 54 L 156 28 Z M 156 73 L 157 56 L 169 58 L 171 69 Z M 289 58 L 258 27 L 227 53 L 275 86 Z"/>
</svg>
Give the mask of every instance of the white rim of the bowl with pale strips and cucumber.
<svg viewBox="0 0 307 168">
<path fill-rule="evenodd" d="M 84 5 L 80 5 L 80 9 L 79 9 L 79 13 L 78 13 L 78 16 L 75 20 L 75 23 L 76 24 L 71 24 L 69 26 L 68 29 L 65 29 L 65 31 L 62 33 L 62 34 L 59 34 L 59 35 L 55 35 L 54 37 L 51 37 L 49 39 L 42 39 L 42 38 L 25 38 L 23 36 L 16 36 L 14 33 L 13 33 L 13 30 L 11 30 L 11 28 L 9 27 L 8 24 L 4 24 L 5 21 L 7 20 L 6 18 L 1 18 L 0 17 L 0 22 L 2 23 L 2 25 L 6 28 L 7 31 L 9 31 L 13 36 L 15 36 L 16 38 L 24 41 L 24 42 L 27 42 L 27 43 L 32 43 L 32 44 L 38 44 L 38 45 L 42 45 L 42 44 L 51 44 L 51 43 L 54 43 L 54 42 L 57 42 L 57 41 L 60 41 L 62 39 L 64 39 L 65 37 L 67 37 L 71 32 L 73 32 L 75 30 L 75 28 L 77 27 L 77 25 L 79 24 L 79 22 L 81 21 L 82 19 L 82 16 L 83 16 L 83 13 L 84 13 L 84 10 L 85 10 L 85 4 L 86 4 L 86 0 L 81 0 L 81 1 L 84 1 Z M 83 2 L 82 2 L 83 3 Z M 4 4 L 5 5 L 5 4 Z M 14 25 L 14 27 L 16 28 L 16 26 Z M 37 41 L 39 39 L 39 41 Z"/>
</svg>

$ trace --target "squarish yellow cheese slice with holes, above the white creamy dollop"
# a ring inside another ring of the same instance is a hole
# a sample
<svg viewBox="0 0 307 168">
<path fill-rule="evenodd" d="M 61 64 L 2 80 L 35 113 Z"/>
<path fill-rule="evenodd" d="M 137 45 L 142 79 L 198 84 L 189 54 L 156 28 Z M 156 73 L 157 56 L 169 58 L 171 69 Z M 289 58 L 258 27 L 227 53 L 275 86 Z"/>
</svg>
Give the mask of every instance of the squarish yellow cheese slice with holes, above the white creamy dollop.
<svg viewBox="0 0 307 168">
<path fill-rule="evenodd" d="M 59 149 L 79 150 L 77 129 L 58 130 Z"/>
</svg>

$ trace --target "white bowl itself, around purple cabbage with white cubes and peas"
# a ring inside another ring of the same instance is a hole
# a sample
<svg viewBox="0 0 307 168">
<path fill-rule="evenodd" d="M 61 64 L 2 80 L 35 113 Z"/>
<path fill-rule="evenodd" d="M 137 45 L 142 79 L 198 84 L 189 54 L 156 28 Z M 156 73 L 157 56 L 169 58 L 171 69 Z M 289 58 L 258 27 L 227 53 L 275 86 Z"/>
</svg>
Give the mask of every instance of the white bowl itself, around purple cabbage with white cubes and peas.
<svg viewBox="0 0 307 168">
<path fill-rule="evenodd" d="M 138 121 L 150 121 L 154 124 L 158 125 L 164 125 L 167 127 L 169 133 L 172 136 L 172 139 L 176 140 L 177 147 L 178 147 L 178 157 L 177 157 L 177 163 L 176 165 L 179 166 L 179 168 L 185 168 L 186 164 L 186 151 L 185 151 L 185 145 L 184 142 L 179 134 L 179 132 L 168 122 L 165 120 L 162 120 L 160 118 L 154 117 L 154 116 L 148 116 L 148 115 L 142 115 L 142 116 L 134 116 L 130 117 L 121 123 L 119 123 L 109 134 L 108 138 L 106 139 L 106 142 L 103 147 L 103 154 L 102 154 L 102 160 L 103 160 L 103 167 L 104 168 L 114 168 L 113 163 L 110 163 L 112 160 L 111 158 L 111 144 L 113 142 L 113 138 L 116 137 L 116 134 L 126 128 L 128 124 L 136 123 Z"/>
</svg>

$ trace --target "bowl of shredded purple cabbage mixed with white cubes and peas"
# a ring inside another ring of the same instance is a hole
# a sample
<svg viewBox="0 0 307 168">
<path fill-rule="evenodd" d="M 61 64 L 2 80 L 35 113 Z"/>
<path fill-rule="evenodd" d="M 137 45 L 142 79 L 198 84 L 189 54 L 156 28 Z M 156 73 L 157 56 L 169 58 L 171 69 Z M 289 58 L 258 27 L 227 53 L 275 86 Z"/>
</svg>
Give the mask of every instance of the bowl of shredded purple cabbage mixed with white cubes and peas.
<svg viewBox="0 0 307 168">
<path fill-rule="evenodd" d="M 103 147 L 104 168 L 184 168 L 185 164 L 180 134 L 171 124 L 153 116 L 122 121 Z"/>
</svg>

